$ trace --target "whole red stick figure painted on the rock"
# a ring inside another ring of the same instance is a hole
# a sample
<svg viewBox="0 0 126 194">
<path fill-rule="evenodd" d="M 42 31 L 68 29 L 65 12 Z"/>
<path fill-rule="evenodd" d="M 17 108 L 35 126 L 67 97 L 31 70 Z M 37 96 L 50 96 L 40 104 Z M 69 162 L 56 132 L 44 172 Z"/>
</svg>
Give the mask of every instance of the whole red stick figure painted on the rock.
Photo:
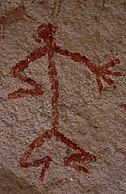
<svg viewBox="0 0 126 194">
<path fill-rule="evenodd" d="M 112 85 L 114 88 L 116 87 L 114 81 L 109 76 L 126 76 L 124 72 L 112 72 L 110 70 L 111 67 L 119 64 L 119 60 L 112 60 L 100 67 L 96 66 L 92 63 L 86 56 L 82 56 L 80 53 L 72 53 L 68 50 L 62 49 L 60 46 L 56 45 L 54 42 L 54 34 L 57 31 L 57 27 L 51 23 L 43 23 L 38 27 L 37 30 L 37 38 L 36 41 L 41 42 L 43 39 L 45 46 L 40 47 L 30 53 L 26 59 L 19 61 L 13 68 L 12 74 L 13 77 L 19 78 L 21 81 L 27 82 L 30 84 L 33 89 L 23 89 L 20 88 L 17 91 L 14 91 L 8 95 L 9 99 L 16 99 L 20 97 L 25 97 L 27 95 L 37 96 L 42 95 L 44 93 L 44 89 L 41 84 L 37 83 L 35 80 L 27 77 L 24 74 L 24 70 L 29 66 L 30 62 L 35 61 L 36 59 L 41 58 L 42 56 L 48 56 L 48 75 L 51 83 L 51 129 L 46 130 L 43 134 L 39 135 L 36 139 L 33 140 L 32 143 L 28 146 L 26 151 L 23 153 L 20 159 L 20 167 L 29 168 L 29 167 L 38 167 L 42 166 L 42 170 L 40 173 L 41 181 L 45 178 L 45 173 L 49 168 L 51 161 L 53 160 L 51 156 L 45 156 L 41 159 L 36 159 L 32 162 L 28 162 L 32 152 L 41 147 L 46 140 L 55 137 L 57 141 L 61 141 L 66 144 L 69 148 L 72 148 L 75 153 L 71 156 L 66 156 L 63 158 L 63 162 L 65 166 L 70 166 L 74 168 L 78 172 L 90 173 L 90 169 L 82 165 L 82 163 L 86 162 L 95 162 L 96 156 L 85 149 L 81 148 L 78 144 L 74 143 L 72 140 L 67 138 L 60 130 L 59 130 L 59 112 L 58 112 L 58 99 L 59 99 L 59 90 L 58 90 L 58 79 L 57 79 L 57 69 L 55 66 L 55 61 L 53 57 L 55 54 L 60 54 L 66 57 L 69 57 L 71 60 L 75 62 L 83 62 L 84 66 L 87 67 L 92 74 L 95 74 L 96 81 L 98 84 L 98 90 L 100 93 L 104 90 L 102 81 L 106 82 L 108 85 Z"/>
</svg>

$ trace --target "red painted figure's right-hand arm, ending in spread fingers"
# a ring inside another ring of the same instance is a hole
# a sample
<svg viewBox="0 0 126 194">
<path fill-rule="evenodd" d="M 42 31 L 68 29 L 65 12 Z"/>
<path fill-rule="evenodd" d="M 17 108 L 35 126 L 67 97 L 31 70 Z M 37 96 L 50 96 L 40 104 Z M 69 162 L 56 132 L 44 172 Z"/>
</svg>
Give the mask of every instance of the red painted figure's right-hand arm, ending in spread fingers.
<svg viewBox="0 0 126 194">
<path fill-rule="evenodd" d="M 68 50 L 64 50 L 60 47 L 56 47 L 56 52 L 69 57 L 70 59 L 72 59 L 75 62 L 83 62 L 85 64 L 85 66 L 93 73 L 96 75 L 96 80 L 97 80 L 97 84 L 98 84 L 98 89 L 99 92 L 101 93 L 103 91 L 103 84 L 102 81 L 106 82 L 109 85 L 113 85 L 113 88 L 116 88 L 116 86 L 114 85 L 114 81 L 109 78 L 108 76 L 126 76 L 126 73 L 124 72 L 112 72 L 109 70 L 109 68 L 117 65 L 120 63 L 120 61 L 118 59 L 112 60 L 100 67 L 96 66 L 94 63 L 92 63 L 87 57 L 82 56 L 79 53 L 71 53 Z"/>
</svg>

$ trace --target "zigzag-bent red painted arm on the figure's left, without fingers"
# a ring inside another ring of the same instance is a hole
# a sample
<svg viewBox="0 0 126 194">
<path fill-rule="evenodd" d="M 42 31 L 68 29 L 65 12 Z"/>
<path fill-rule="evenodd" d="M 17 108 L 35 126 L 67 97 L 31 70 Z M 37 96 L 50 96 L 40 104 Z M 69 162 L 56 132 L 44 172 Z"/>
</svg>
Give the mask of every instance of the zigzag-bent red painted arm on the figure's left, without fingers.
<svg viewBox="0 0 126 194">
<path fill-rule="evenodd" d="M 24 74 L 24 70 L 29 66 L 30 62 L 35 61 L 36 59 L 41 58 L 42 56 L 45 56 L 47 54 L 47 48 L 39 48 L 34 50 L 30 55 L 26 57 L 26 59 L 19 61 L 14 67 L 12 67 L 12 75 L 14 78 L 19 78 L 21 81 L 26 82 L 30 84 L 34 89 L 23 89 L 20 88 L 17 91 L 14 91 L 10 94 L 8 94 L 8 98 L 20 98 L 24 97 L 26 95 L 42 95 L 43 94 L 43 88 L 41 84 L 38 84 L 35 80 L 27 77 Z"/>
</svg>

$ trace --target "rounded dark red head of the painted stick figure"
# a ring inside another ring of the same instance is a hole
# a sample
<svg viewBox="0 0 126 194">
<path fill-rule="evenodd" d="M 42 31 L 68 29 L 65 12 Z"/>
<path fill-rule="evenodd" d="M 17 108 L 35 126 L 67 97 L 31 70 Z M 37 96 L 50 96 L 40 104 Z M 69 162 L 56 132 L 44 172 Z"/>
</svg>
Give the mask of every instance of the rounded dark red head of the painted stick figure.
<svg viewBox="0 0 126 194">
<path fill-rule="evenodd" d="M 53 35 L 56 33 L 57 27 L 53 24 L 41 24 L 38 27 L 37 33 L 39 38 L 42 38 L 44 41 L 46 41 L 48 38 L 53 39 Z"/>
</svg>

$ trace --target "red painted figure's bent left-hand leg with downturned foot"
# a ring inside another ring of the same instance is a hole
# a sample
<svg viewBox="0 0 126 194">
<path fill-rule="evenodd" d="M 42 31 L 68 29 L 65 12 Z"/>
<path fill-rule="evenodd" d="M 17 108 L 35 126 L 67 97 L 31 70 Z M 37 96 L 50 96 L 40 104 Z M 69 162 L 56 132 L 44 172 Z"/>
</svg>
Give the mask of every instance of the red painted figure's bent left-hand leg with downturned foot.
<svg viewBox="0 0 126 194">
<path fill-rule="evenodd" d="M 40 173 L 40 179 L 41 181 L 44 180 L 45 172 L 48 170 L 50 162 L 52 161 L 52 158 L 50 156 L 45 156 L 41 159 L 35 159 L 32 162 L 28 162 L 28 159 L 30 158 L 32 152 L 38 148 L 41 147 L 45 140 L 48 140 L 52 137 L 53 132 L 52 130 L 45 131 L 42 135 L 40 135 L 38 138 L 36 138 L 28 147 L 28 149 L 25 151 L 23 156 L 20 159 L 19 166 L 23 168 L 28 167 L 38 167 L 40 165 L 44 165 L 42 167 L 41 173 Z"/>
</svg>

